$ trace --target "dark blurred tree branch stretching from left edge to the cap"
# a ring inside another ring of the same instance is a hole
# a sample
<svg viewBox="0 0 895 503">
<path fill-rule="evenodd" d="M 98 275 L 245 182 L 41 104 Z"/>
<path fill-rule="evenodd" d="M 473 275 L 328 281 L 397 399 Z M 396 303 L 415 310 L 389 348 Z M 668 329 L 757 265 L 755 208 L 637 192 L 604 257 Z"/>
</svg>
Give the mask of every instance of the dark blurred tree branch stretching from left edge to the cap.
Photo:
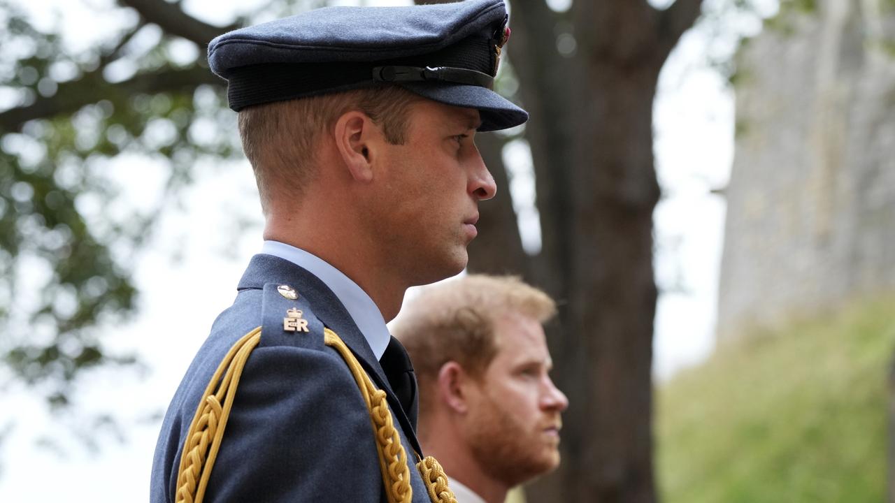
<svg viewBox="0 0 895 503">
<path fill-rule="evenodd" d="M 72 114 L 81 107 L 101 99 L 127 98 L 138 93 L 192 90 L 201 84 L 223 87 L 224 81 L 209 72 L 208 68 L 198 64 L 189 68 L 168 68 L 138 73 L 127 81 L 115 84 L 106 81 L 102 70 L 99 69 L 85 73 L 78 80 L 59 84 L 59 89 L 51 97 L 40 97 L 28 106 L 0 112 L 0 132 L 18 131 L 30 120 Z"/>
</svg>

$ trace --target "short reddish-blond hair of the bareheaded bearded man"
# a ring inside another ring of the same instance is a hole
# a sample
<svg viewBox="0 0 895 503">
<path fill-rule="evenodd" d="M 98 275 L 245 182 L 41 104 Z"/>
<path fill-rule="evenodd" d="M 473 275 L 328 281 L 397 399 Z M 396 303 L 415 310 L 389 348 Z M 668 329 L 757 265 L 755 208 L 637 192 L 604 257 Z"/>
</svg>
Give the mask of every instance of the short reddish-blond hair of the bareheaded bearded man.
<svg viewBox="0 0 895 503">
<path fill-rule="evenodd" d="M 392 333 L 425 387 L 446 362 L 481 377 L 497 354 L 494 324 L 501 316 L 521 314 L 544 323 L 556 311 L 550 295 L 519 277 L 469 275 L 424 288 L 401 311 Z"/>
</svg>

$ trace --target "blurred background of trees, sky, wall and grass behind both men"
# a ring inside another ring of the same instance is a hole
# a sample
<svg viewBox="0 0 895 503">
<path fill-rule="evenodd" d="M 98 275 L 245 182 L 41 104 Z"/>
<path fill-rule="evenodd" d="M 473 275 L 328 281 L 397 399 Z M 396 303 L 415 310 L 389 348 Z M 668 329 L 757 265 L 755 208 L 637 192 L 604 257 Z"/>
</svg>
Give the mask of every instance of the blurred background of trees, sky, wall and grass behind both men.
<svg viewBox="0 0 895 503">
<path fill-rule="evenodd" d="M 206 44 L 356 3 L 0 0 L 0 500 L 146 499 L 261 244 Z M 559 300 L 571 403 L 525 498 L 895 501 L 895 1 L 509 4 L 469 270 Z"/>
</svg>

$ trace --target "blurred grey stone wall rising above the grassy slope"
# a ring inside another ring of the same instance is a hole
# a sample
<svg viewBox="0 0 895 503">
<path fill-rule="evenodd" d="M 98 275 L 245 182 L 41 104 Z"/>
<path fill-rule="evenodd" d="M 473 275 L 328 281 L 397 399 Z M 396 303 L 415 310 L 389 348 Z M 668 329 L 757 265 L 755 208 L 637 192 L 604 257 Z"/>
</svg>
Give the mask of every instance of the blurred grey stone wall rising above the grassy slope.
<svg viewBox="0 0 895 503">
<path fill-rule="evenodd" d="M 738 55 L 721 339 L 895 290 L 893 41 L 890 0 L 816 0 Z"/>
</svg>

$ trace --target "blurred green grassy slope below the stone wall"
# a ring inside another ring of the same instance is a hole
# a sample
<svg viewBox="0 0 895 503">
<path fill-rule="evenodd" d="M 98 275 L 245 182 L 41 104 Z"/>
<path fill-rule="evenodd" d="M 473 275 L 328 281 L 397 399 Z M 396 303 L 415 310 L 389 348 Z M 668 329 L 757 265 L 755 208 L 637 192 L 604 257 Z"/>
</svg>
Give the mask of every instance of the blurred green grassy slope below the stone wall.
<svg viewBox="0 0 895 503">
<path fill-rule="evenodd" d="M 663 503 L 885 496 L 895 299 L 721 348 L 657 390 Z"/>
</svg>

